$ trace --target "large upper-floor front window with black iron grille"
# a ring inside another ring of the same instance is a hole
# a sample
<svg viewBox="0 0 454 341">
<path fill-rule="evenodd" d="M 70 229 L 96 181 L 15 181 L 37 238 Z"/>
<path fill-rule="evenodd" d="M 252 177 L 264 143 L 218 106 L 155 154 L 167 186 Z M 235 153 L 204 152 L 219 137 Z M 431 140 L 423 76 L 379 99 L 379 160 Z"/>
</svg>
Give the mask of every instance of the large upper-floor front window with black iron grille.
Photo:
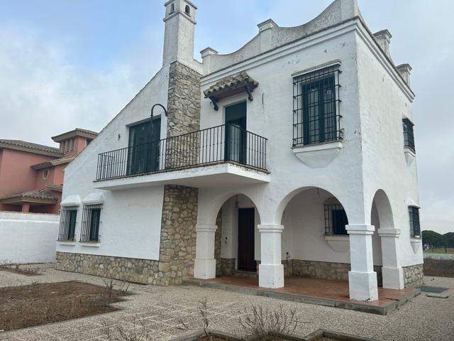
<svg viewBox="0 0 454 341">
<path fill-rule="evenodd" d="M 339 65 L 293 79 L 293 146 L 336 141 L 341 136 Z"/>
</svg>

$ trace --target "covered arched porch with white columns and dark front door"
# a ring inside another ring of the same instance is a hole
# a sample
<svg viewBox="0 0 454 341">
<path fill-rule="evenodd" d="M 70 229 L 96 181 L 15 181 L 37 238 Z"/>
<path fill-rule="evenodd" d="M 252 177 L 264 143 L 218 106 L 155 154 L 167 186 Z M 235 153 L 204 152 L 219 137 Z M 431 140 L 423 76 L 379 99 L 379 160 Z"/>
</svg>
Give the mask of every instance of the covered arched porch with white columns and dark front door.
<svg viewBox="0 0 454 341">
<path fill-rule="evenodd" d="M 289 193 L 277 209 L 280 224 L 263 223 L 268 218 L 260 197 L 213 200 L 216 223 L 196 227 L 194 278 L 256 286 L 260 292 L 323 294 L 320 299 L 338 305 L 350 300 L 380 305 L 383 295 L 405 296 L 399 291 L 404 288 L 396 256 L 399 234 L 392 229 L 386 195 L 373 198 L 365 224 L 349 224 L 355 201 L 339 198 L 316 187 Z"/>
</svg>

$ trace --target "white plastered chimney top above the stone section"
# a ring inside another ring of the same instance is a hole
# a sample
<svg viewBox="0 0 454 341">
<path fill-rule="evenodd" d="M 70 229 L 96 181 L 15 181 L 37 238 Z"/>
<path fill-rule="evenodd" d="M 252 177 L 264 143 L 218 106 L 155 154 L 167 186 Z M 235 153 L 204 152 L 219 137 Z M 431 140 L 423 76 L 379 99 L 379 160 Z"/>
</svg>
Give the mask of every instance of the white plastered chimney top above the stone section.
<svg viewBox="0 0 454 341">
<path fill-rule="evenodd" d="M 197 7 L 189 0 L 170 0 L 165 4 L 165 33 L 162 66 L 179 61 L 194 62 L 194 31 Z"/>
</svg>

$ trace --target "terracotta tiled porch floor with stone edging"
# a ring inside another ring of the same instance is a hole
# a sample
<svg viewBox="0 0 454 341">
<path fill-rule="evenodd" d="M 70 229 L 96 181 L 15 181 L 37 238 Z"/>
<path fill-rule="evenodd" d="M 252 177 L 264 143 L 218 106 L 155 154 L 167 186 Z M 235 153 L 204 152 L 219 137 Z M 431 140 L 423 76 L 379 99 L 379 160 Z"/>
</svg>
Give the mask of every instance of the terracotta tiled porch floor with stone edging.
<svg viewBox="0 0 454 341">
<path fill-rule="evenodd" d="M 301 301 L 322 305 L 331 305 L 338 308 L 370 311 L 386 315 L 390 311 L 409 301 L 419 294 L 419 289 L 406 288 L 394 290 L 378 288 L 379 299 L 365 302 L 350 300 L 348 296 L 348 281 L 333 281 L 318 278 L 289 277 L 285 278 L 284 288 L 269 289 L 258 286 L 258 278 L 218 277 L 212 279 L 194 279 L 191 282 L 201 286 L 226 288 L 251 289 L 251 294 L 270 296 L 289 301 Z M 235 291 L 235 290 L 233 290 Z M 257 291 L 255 293 L 255 291 Z M 314 298 L 313 300 L 311 298 Z M 377 308 L 377 309 L 375 309 Z"/>
</svg>

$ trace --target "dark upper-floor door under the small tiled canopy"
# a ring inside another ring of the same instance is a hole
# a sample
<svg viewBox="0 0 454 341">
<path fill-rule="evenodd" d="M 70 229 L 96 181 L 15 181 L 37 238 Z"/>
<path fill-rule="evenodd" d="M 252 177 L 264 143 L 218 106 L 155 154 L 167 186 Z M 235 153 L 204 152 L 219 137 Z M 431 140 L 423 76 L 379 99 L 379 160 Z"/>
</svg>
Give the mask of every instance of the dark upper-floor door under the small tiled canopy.
<svg viewBox="0 0 454 341">
<path fill-rule="evenodd" d="M 246 163 L 246 102 L 226 107 L 226 161 Z"/>
</svg>

